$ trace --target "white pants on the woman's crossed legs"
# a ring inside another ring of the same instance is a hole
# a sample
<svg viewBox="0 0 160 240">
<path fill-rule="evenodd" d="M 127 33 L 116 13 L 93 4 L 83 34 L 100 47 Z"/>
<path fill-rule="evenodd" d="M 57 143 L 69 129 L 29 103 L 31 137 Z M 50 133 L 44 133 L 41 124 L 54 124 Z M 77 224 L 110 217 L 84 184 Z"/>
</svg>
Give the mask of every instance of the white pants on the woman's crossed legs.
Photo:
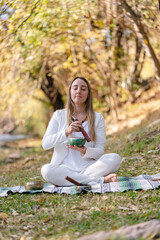
<svg viewBox="0 0 160 240">
<path fill-rule="evenodd" d="M 83 170 L 82 172 L 74 172 L 64 166 L 53 166 L 52 163 L 45 164 L 41 173 L 43 178 L 57 186 L 72 186 L 73 184 L 67 181 L 66 176 L 73 178 L 81 184 L 97 184 L 104 182 L 104 176 L 116 172 L 121 163 L 121 157 L 116 153 L 107 153 L 100 157 L 95 163 Z"/>
</svg>

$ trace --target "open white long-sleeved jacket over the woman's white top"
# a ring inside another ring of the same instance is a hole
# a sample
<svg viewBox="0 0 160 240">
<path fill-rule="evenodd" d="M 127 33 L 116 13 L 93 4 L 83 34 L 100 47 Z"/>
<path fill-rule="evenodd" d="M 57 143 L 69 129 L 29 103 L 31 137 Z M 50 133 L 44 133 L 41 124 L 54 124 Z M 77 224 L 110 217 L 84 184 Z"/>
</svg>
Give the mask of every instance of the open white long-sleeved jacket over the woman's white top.
<svg viewBox="0 0 160 240">
<path fill-rule="evenodd" d="M 54 148 L 51 163 L 54 166 L 59 166 L 69 153 L 66 147 L 68 137 L 65 134 L 67 128 L 67 111 L 66 109 L 57 110 L 48 124 L 45 135 L 42 139 L 42 147 L 47 150 Z M 101 113 L 95 112 L 95 132 L 96 142 L 87 143 L 86 153 L 81 155 L 82 158 L 89 160 L 97 160 L 104 154 L 104 145 L 106 142 L 106 129 L 104 118 Z M 79 152 L 77 151 L 77 154 Z"/>
</svg>

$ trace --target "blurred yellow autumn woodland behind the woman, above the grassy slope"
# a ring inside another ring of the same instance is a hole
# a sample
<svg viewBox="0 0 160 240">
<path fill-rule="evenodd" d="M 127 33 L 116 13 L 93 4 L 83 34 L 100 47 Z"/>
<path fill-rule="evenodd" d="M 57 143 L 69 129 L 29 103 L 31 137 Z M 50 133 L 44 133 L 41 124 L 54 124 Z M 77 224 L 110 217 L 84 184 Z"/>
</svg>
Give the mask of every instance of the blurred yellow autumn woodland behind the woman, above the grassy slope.
<svg viewBox="0 0 160 240">
<path fill-rule="evenodd" d="M 0 1 L 0 20 L 0 116 L 13 129 L 42 136 L 75 76 L 91 83 L 108 133 L 159 105 L 146 108 L 159 99 L 158 1 Z"/>
</svg>

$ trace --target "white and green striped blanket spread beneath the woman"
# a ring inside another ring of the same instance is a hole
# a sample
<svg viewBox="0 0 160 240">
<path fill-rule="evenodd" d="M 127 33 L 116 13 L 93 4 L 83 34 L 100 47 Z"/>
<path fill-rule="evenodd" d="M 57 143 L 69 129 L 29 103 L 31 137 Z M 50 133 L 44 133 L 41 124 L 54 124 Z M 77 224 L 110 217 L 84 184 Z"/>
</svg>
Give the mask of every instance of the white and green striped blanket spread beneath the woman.
<svg viewBox="0 0 160 240">
<path fill-rule="evenodd" d="M 139 175 L 136 177 L 118 177 L 117 182 L 104 183 L 92 185 L 91 189 L 85 187 L 71 186 L 71 187 L 55 187 L 50 183 L 45 183 L 42 190 L 26 190 L 24 186 L 15 186 L 0 188 L 0 197 L 5 197 L 9 193 L 66 193 L 76 194 L 81 192 L 106 193 L 106 192 L 124 192 L 128 190 L 148 190 L 160 187 L 160 181 L 153 181 L 160 179 L 160 173 L 155 175 Z"/>
</svg>

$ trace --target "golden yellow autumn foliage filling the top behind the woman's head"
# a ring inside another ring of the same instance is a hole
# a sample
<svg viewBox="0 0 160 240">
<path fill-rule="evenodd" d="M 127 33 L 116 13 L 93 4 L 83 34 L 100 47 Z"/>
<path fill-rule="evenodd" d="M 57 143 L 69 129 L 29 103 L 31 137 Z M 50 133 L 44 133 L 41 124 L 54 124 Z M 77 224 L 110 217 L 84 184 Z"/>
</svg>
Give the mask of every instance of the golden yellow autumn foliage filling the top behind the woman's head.
<svg viewBox="0 0 160 240">
<path fill-rule="evenodd" d="M 13 108 L 22 108 L 19 102 L 24 104 L 26 97 L 32 97 L 34 90 L 45 84 L 49 71 L 63 99 L 74 76 L 88 78 L 95 106 L 105 106 L 104 112 L 113 110 L 118 118 L 118 106 L 143 82 L 146 46 L 151 43 L 155 54 L 160 47 L 157 3 L 127 1 L 147 34 L 145 39 L 123 2 L 8 1 L 15 11 L 1 21 L 1 110 L 13 114 Z M 3 7 L 4 1 L 0 4 Z M 3 11 L 1 8 L 0 16 Z M 139 52 L 137 39 L 139 46 L 142 44 Z"/>
</svg>

